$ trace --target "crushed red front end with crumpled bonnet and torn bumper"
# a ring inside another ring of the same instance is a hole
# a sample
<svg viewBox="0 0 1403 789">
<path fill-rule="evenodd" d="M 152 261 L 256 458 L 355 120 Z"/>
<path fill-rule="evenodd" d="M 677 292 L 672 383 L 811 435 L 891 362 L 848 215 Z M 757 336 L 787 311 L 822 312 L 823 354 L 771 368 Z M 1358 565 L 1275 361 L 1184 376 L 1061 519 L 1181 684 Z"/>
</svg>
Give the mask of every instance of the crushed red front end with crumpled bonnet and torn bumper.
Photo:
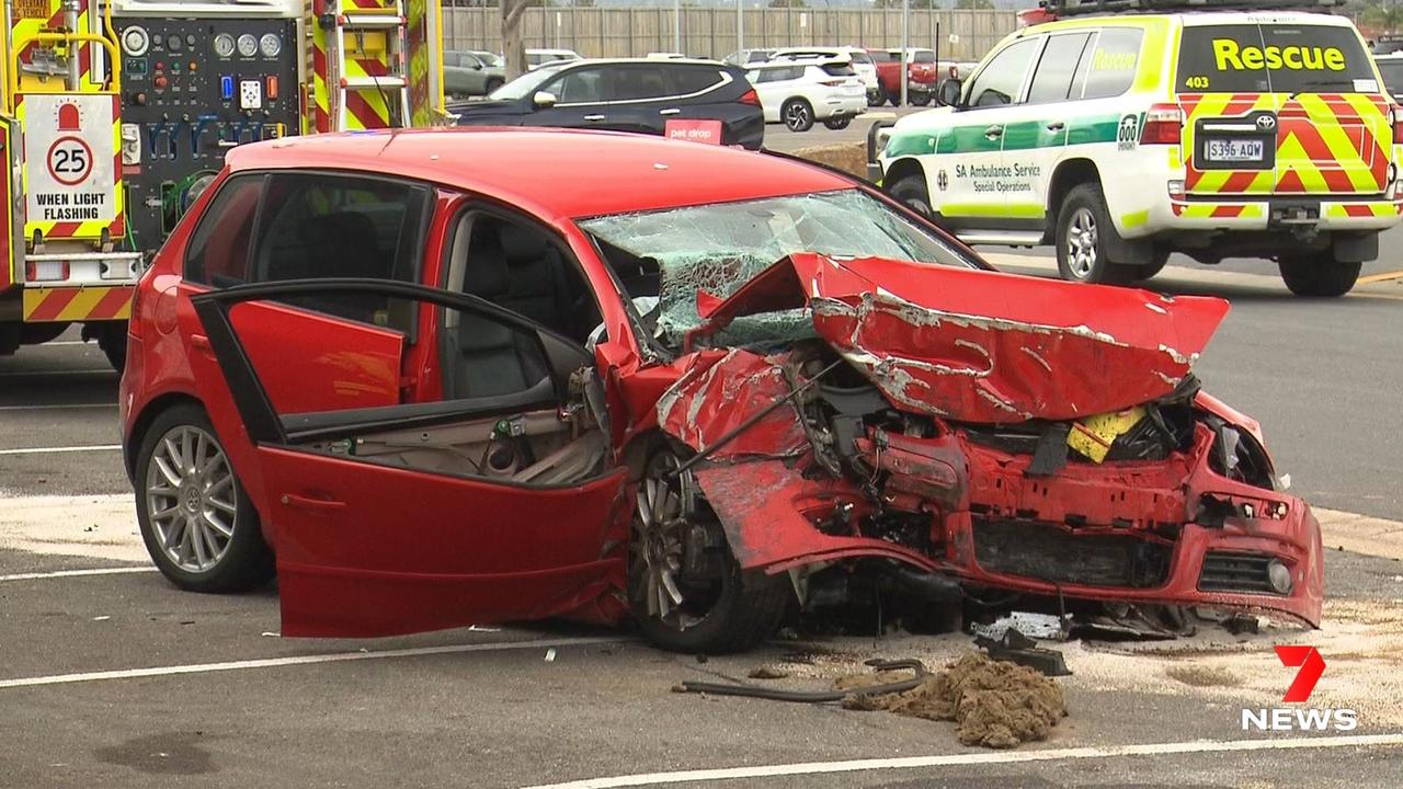
<svg viewBox="0 0 1403 789">
<path fill-rule="evenodd" d="M 1226 305 L 1005 277 L 793 256 L 709 305 L 658 423 L 741 566 L 1317 625 L 1319 524 L 1190 372 Z M 709 347 L 796 307 L 810 340 Z"/>
</svg>

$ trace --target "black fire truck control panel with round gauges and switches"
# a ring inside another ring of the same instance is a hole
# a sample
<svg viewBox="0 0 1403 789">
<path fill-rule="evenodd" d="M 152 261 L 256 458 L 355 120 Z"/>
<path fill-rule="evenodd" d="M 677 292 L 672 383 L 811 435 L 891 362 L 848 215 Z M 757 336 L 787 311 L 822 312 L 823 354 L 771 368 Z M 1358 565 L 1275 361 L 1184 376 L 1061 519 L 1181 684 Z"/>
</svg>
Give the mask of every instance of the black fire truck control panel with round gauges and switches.
<svg viewBox="0 0 1403 789">
<path fill-rule="evenodd" d="M 136 248 L 156 248 L 239 145 L 297 133 L 297 22 L 115 17 L 122 173 Z"/>
</svg>

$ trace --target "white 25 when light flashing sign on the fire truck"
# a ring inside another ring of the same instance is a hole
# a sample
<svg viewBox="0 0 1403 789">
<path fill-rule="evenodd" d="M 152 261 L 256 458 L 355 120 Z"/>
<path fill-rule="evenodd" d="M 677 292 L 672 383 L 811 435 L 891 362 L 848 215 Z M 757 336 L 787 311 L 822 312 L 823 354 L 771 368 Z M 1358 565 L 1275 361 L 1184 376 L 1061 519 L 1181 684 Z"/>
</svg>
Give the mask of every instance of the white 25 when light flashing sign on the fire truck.
<svg viewBox="0 0 1403 789">
<path fill-rule="evenodd" d="M 114 98 L 104 94 L 25 94 L 27 222 L 116 219 Z"/>
</svg>

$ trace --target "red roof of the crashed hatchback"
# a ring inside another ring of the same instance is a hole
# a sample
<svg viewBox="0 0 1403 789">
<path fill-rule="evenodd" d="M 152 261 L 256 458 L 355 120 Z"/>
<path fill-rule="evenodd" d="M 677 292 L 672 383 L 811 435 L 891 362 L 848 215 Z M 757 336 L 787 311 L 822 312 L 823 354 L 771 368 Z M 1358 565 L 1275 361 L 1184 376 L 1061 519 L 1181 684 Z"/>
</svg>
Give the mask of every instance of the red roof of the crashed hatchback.
<svg viewBox="0 0 1403 789">
<path fill-rule="evenodd" d="M 821 167 L 624 132 L 438 128 L 241 145 L 230 170 L 393 173 L 521 206 L 553 222 L 852 188 Z M 561 177 L 568 173 L 570 177 Z"/>
</svg>

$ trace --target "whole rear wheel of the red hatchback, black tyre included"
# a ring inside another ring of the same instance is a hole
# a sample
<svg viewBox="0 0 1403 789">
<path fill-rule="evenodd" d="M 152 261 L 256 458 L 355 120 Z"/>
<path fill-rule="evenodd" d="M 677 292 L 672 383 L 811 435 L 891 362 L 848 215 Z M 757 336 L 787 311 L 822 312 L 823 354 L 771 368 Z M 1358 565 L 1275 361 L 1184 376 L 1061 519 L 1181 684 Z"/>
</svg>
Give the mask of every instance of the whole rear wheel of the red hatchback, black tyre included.
<svg viewBox="0 0 1403 789">
<path fill-rule="evenodd" d="M 142 541 L 173 584 L 237 592 L 272 578 L 258 512 L 203 409 L 161 411 L 142 438 L 133 479 Z"/>
</svg>

